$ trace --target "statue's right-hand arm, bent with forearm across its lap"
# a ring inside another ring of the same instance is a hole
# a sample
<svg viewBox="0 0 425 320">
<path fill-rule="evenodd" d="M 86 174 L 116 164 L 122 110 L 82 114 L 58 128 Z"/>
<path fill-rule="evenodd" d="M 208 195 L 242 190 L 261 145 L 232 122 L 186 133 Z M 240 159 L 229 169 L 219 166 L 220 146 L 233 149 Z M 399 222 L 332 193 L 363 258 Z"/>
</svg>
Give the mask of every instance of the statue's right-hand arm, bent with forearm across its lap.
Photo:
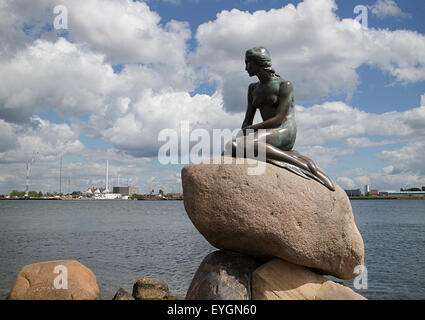
<svg viewBox="0 0 425 320">
<path fill-rule="evenodd" d="M 249 126 L 247 129 L 259 130 L 278 128 L 288 114 L 292 90 L 292 84 L 290 82 L 282 82 L 279 88 L 279 104 L 276 108 L 276 115 L 264 122 Z"/>
</svg>

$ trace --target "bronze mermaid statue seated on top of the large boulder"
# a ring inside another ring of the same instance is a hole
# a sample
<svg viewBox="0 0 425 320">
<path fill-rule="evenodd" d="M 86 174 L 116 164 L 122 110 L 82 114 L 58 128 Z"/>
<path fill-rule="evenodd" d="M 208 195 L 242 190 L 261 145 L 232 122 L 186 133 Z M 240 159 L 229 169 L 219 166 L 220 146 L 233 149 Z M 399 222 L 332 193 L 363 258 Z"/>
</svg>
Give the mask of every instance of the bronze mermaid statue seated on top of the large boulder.
<svg viewBox="0 0 425 320">
<path fill-rule="evenodd" d="M 238 146 L 247 150 L 247 145 L 253 144 L 251 147 L 257 152 L 260 147 L 266 151 L 267 162 L 312 178 L 335 191 L 332 180 L 310 158 L 292 149 L 297 135 L 293 87 L 275 73 L 269 51 L 264 47 L 248 50 L 245 64 L 249 76 L 257 76 L 259 81 L 249 85 L 241 135 L 226 145 L 224 154 L 236 157 Z M 257 109 L 263 122 L 253 124 Z M 261 133 L 260 129 L 263 129 Z"/>
</svg>

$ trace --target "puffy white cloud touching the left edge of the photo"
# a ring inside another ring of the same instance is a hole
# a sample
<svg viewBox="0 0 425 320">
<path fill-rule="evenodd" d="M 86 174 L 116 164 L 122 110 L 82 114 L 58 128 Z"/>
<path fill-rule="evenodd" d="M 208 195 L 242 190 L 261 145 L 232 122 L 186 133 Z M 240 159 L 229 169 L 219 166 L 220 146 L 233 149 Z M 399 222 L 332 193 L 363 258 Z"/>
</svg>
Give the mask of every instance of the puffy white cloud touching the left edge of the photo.
<svg viewBox="0 0 425 320">
<path fill-rule="evenodd" d="M 10 59 L 0 60 L 0 118 L 27 121 L 44 109 L 95 112 L 124 85 L 103 58 L 61 38 L 36 40 Z"/>
</svg>

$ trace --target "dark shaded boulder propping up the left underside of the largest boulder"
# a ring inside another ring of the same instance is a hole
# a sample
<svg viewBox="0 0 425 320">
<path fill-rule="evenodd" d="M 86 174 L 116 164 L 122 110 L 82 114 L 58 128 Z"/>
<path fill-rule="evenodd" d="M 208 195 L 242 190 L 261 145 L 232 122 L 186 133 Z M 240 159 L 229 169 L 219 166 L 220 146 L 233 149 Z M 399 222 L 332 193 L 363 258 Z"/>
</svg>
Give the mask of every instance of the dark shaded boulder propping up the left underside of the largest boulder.
<svg viewBox="0 0 425 320">
<path fill-rule="evenodd" d="M 257 266 L 242 253 L 212 252 L 196 271 L 186 300 L 251 300 L 251 275 Z"/>
</svg>

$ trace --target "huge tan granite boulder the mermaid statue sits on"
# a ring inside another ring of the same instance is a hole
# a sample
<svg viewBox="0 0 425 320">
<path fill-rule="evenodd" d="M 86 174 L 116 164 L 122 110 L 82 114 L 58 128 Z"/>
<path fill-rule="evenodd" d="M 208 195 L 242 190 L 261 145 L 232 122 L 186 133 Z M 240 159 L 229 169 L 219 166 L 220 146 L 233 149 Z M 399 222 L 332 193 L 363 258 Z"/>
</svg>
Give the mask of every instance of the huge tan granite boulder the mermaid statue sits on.
<svg viewBox="0 0 425 320">
<path fill-rule="evenodd" d="M 341 279 L 359 275 L 363 239 L 336 183 L 332 192 L 271 164 L 261 164 L 263 174 L 250 175 L 248 167 L 258 163 L 210 161 L 185 166 L 182 183 L 189 218 L 213 246 L 282 258 Z"/>
</svg>

